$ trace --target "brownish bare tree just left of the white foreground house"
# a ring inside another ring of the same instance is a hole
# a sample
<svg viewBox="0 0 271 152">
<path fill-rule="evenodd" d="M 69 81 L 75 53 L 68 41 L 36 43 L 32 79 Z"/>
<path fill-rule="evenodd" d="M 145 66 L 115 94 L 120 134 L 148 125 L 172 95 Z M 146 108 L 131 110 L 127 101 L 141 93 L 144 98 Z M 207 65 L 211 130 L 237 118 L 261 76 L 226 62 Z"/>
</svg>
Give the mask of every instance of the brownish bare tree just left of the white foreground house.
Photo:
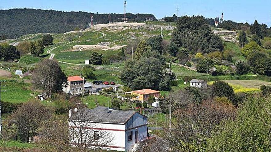
<svg viewBox="0 0 271 152">
<path fill-rule="evenodd" d="M 42 126 L 40 133 L 39 145 L 46 145 L 46 149 L 50 147 L 56 151 L 69 151 L 69 129 L 67 117 L 55 115 L 47 123 Z"/>
</svg>

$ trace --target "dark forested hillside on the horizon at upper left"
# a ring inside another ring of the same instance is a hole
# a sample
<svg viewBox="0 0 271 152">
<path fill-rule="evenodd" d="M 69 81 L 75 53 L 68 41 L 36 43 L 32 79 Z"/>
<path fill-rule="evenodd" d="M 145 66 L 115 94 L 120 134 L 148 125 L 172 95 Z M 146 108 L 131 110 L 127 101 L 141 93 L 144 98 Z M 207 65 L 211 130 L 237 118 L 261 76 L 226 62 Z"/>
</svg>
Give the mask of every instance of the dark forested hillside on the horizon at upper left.
<svg viewBox="0 0 271 152">
<path fill-rule="evenodd" d="M 123 14 L 93 14 L 87 12 L 63 12 L 55 10 L 10 9 L 0 10 L 0 40 L 18 38 L 30 33 L 65 33 L 75 28 L 87 28 L 90 16 L 94 24 L 121 21 Z M 110 15 L 110 17 L 109 17 Z M 154 18 L 152 14 L 126 14 L 131 21 Z"/>
</svg>

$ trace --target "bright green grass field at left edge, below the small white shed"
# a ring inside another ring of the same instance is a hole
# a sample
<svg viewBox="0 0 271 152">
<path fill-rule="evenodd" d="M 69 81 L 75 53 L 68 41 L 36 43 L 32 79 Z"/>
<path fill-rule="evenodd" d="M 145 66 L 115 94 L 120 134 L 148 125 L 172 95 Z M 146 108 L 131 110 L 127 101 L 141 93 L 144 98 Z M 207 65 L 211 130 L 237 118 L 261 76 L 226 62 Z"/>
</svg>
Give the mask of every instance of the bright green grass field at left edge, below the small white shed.
<svg viewBox="0 0 271 152">
<path fill-rule="evenodd" d="M 34 98 L 30 95 L 34 94 L 34 92 L 31 91 L 31 84 L 29 83 L 18 80 L 7 80 L 2 85 L 6 86 L 2 87 L 2 90 L 6 90 L 6 92 L 1 93 L 1 100 L 4 102 L 22 103 Z"/>
</svg>

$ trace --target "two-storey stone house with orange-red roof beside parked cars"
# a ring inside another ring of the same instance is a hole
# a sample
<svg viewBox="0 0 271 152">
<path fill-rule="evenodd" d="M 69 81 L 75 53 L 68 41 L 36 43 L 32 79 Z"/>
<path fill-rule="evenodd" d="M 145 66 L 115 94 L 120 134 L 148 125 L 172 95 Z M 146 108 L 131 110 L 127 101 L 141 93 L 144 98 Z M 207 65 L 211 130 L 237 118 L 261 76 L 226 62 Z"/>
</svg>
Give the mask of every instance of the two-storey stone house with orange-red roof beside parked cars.
<svg viewBox="0 0 271 152">
<path fill-rule="evenodd" d="M 84 90 L 84 79 L 81 76 L 69 76 L 68 84 L 63 87 L 63 92 L 67 94 L 80 94 Z"/>
</svg>

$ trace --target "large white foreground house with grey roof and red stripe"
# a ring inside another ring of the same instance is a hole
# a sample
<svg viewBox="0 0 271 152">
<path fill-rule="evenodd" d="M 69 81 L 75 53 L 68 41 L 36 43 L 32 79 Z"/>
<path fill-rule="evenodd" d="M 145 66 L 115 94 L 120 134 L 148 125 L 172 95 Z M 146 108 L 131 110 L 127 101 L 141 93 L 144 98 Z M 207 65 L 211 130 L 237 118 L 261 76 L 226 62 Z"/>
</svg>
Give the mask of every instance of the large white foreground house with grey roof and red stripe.
<svg viewBox="0 0 271 152">
<path fill-rule="evenodd" d="M 147 117 L 134 111 L 118 111 L 99 107 L 97 109 L 81 109 L 69 113 L 69 130 L 78 129 L 76 123 L 86 122 L 82 127 L 89 131 L 89 137 L 98 137 L 106 131 L 108 138 L 113 137 L 110 144 L 103 146 L 104 149 L 118 151 L 134 151 L 141 141 L 148 139 Z M 88 114 L 87 117 L 83 114 Z M 77 117 L 80 115 L 80 117 Z M 85 118 L 85 119 L 81 119 Z M 71 141 L 71 144 L 73 144 Z M 94 145 L 94 144 L 93 144 Z"/>
</svg>

